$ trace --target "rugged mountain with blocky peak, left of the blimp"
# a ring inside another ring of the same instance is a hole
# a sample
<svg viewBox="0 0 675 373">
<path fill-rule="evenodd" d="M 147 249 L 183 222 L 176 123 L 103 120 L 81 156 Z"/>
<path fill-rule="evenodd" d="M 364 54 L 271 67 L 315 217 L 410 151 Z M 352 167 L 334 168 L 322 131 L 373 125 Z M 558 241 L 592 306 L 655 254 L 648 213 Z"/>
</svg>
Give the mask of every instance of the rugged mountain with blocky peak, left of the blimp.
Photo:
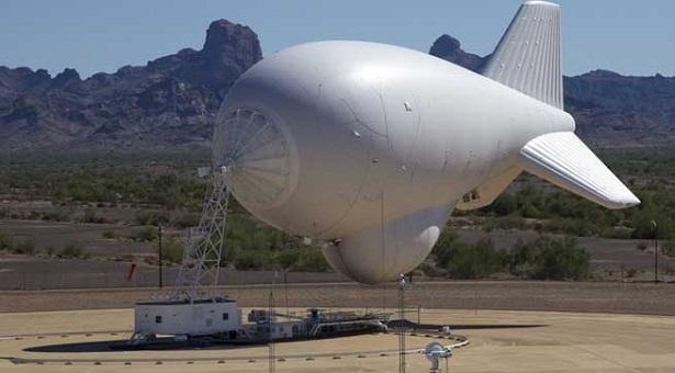
<svg viewBox="0 0 675 373">
<path fill-rule="evenodd" d="M 225 93 L 261 58 L 256 33 L 218 20 L 201 50 L 85 80 L 74 69 L 50 77 L 0 67 L 0 144 L 3 150 L 203 146 Z"/>
</svg>

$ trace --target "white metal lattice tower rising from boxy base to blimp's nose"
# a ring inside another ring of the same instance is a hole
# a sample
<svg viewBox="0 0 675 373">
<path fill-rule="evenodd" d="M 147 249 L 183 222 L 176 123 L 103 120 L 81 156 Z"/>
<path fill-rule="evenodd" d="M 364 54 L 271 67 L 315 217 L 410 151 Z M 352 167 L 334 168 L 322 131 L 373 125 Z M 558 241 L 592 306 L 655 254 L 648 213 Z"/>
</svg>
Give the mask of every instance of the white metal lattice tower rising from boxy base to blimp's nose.
<svg viewBox="0 0 675 373">
<path fill-rule="evenodd" d="M 217 296 L 221 261 L 227 235 L 229 188 L 225 182 L 226 172 L 226 167 L 211 171 L 200 223 L 188 230 L 182 263 L 169 294 L 172 301 Z"/>
</svg>

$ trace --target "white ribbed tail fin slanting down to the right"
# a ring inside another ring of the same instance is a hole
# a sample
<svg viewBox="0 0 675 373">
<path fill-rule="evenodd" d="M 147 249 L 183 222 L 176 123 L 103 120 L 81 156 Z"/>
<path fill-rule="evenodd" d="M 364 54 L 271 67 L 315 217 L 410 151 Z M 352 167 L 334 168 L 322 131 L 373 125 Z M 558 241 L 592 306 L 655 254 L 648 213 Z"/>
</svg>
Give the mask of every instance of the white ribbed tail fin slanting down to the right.
<svg viewBox="0 0 675 373">
<path fill-rule="evenodd" d="M 571 132 L 530 140 L 520 166 L 551 183 L 608 208 L 634 206 L 640 200 Z"/>
</svg>

